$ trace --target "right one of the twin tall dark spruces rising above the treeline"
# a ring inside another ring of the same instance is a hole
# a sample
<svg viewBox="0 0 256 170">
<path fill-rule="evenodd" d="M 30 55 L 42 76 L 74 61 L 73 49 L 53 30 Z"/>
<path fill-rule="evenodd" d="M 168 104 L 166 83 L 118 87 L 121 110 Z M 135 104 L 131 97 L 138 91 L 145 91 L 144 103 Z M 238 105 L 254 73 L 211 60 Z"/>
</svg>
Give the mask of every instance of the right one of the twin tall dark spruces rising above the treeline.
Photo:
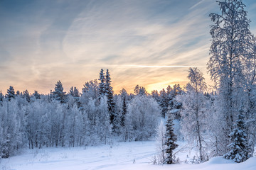
<svg viewBox="0 0 256 170">
<path fill-rule="evenodd" d="M 111 78 L 110 78 L 110 72 L 107 69 L 106 77 L 105 77 L 105 94 L 107 96 L 107 108 L 110 114 L 110 123 L 113 125 L 113 128 L 116 128 L 116 125 L 114 125 L 115 115 L 114 115 L 114 91 L 111 86 Z"/>
</svg>

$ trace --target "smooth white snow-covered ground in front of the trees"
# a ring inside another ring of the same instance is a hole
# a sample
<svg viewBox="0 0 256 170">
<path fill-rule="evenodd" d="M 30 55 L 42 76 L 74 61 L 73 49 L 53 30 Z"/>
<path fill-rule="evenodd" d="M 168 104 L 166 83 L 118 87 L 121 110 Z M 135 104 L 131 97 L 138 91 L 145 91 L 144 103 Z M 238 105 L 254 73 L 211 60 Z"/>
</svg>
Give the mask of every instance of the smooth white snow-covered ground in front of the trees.
<svg viewBox="0 0 256 170">
<path fill-rule="evenodd" d="M 180 146 L 184 145 L 180 143 Z M 185 164 L 193 159 L 195 152 L 183 150 L 177 157 L 181 164 L 154 165 L 151 164 L 156 154 L 156 143 L 149 142 L 120 142 L 114 145 L 99 147 L 75 148 L 44 148 L 24 149 L 22 154 L 9 159 L 0 160 L 0 169 L 4 170 L 51 170 L 51 169 L 107 169 L 107 170 L 151 170 L 151 169 L 207 169 L 207 170 L 255 170 L 256 158 L 247 162 L 234 163 L 222 157 L 215 157 L 203 164 Z"/>
</svg>

